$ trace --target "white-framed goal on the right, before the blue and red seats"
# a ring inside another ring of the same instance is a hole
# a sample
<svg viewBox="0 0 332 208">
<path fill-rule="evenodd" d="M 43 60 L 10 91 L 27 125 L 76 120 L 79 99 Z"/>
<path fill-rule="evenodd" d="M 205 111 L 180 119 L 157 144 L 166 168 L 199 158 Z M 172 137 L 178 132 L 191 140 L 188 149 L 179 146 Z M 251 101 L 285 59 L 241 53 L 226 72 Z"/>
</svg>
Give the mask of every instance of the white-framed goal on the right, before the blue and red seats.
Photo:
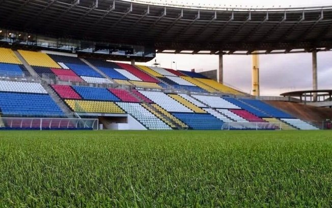
<svg viewBox="0 0 332 208">
<path fill-rule="evenodd" d="M 281 130 L 280 123 L 269 122 L 225 122 L 222 130 Z"/>
</svg>

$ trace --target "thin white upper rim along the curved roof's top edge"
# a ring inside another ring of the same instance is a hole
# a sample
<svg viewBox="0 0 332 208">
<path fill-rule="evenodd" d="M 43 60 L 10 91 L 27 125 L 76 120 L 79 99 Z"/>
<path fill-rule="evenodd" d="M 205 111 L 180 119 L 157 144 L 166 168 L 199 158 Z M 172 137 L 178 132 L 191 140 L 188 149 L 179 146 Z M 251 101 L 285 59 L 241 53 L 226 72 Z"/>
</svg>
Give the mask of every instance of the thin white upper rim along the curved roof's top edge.
<svg viewBox="0 0 332 208">
<path fill-rule="evenodd" d="M 319 10 L 319 9 L 332 9 L 332 5 L 329 6 L 312 6 L 312 7 L 210 7 L 210 6 L 198 6 L 198 5 L 181 5 L 181 4 L 162 4 L 155 2 L 147 2 L 144 0 L 120 0 L 123 2 L 130 2 L 135 4 L 154 5 L 161 7 L 174 7 L 183 9 L 203 9 L 203 10 L 218 10 L 218 11 L 299 11 L 299 10 Z"/>
</svg>

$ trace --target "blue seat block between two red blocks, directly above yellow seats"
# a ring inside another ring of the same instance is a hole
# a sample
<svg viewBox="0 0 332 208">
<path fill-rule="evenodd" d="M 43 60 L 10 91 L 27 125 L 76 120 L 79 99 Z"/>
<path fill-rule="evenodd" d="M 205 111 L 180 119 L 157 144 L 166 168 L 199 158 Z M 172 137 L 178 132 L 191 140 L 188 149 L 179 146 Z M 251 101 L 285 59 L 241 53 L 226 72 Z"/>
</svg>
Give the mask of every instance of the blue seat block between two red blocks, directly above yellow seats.
<svg viewBox="0 0 332 208">
<path fill-rule="evenodd" d="M 72 86 L 73 89 L 84 99 L 88 100 L 107 100 L 120 101 L 112 92 L 105 88 Z"/>
</svg>

